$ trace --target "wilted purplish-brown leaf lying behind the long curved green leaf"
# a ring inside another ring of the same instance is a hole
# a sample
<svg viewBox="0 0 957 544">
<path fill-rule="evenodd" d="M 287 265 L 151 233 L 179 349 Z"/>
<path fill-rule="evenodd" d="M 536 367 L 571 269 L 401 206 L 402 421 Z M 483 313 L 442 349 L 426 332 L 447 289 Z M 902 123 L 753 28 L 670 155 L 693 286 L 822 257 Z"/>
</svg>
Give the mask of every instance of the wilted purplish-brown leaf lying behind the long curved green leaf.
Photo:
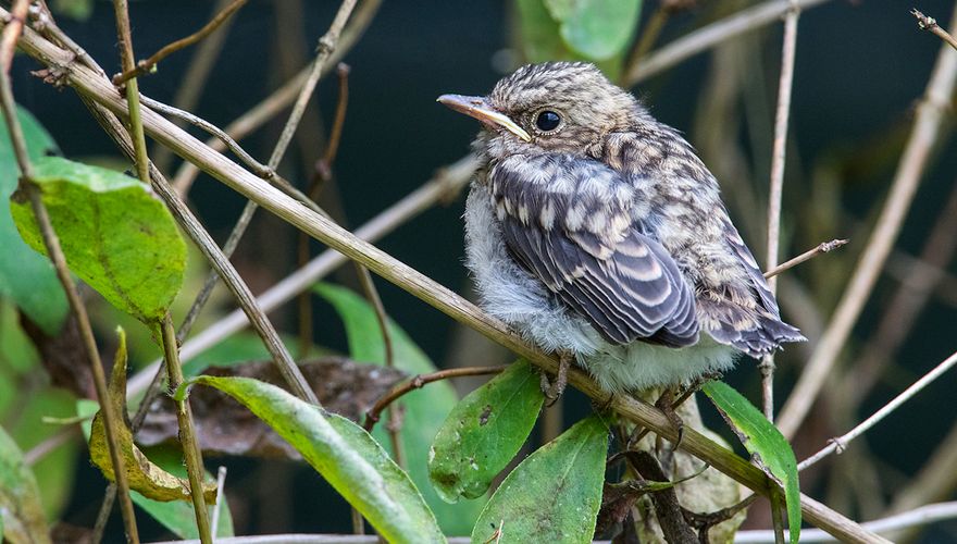
<svg viewBox="0 0 957 544">
<path fill-rule="evenodd" d="M 406 376 L 395 369 L 358 364 L 343 357 L 302 362 L 299 370 L 325 409 L 353 421 L 361 419 L 378 397 Z M 285 380 L 272 361 L 211 368 L 206 374 L 254 378 L 285 387 Z M 261 419 L 219 390 L 202 387 L 191 392 L 189 405 L 203 455 L 300 458 L 299 453 Z M 160 397 L 150 406 L 149 416 L 136 434 L 136 442 L 141 446 L 177 442 L 178 431 L 173 400 Z"/>
</svg>

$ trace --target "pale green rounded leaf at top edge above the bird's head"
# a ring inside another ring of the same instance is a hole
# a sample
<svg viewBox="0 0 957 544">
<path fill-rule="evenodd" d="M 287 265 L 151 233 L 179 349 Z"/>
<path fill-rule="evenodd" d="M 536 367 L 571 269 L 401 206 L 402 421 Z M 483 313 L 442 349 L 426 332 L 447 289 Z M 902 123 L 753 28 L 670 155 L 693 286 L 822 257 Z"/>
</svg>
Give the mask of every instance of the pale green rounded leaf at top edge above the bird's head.
<svg viewBox="0 0 957 544">
<path fill-rule="evenodd" d="M 632 40 L 642 0 L 544 0 L 561 37 L 591 61 L 611 59 Z"/>
</svg>

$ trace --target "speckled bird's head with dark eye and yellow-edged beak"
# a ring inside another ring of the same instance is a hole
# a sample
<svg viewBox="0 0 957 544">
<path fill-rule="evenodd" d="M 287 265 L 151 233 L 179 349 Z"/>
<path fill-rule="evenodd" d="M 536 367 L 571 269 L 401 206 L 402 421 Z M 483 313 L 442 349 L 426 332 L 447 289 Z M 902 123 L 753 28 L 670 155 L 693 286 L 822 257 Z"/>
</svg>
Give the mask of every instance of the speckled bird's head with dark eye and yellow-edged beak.
<svg viewBox="0 0 957 544">
<path fill-rule="evenodd" d="M 527 152 L 585 154 L 604 135 L 647 115 L 593 64 L 527 64 L 485 97 L 443 95 L 445 106 L 482 121 L 478 145 L 492 158 Z"/>
</svg>

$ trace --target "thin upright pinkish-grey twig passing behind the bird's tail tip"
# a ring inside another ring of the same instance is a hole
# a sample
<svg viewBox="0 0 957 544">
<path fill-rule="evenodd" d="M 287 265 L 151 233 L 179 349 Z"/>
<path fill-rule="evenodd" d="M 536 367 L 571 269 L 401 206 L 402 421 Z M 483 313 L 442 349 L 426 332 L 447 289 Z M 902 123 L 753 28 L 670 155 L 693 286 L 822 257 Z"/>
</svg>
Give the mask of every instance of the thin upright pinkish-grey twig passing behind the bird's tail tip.
<svg viewBox="0 0 957 544">
<path fill-rule="evenodd" d="M 771 151 L 771 183 L 768 190 L 768 269 L 778 267 L 781 245 L 781 200 L 784 193 L 784 161 L 787 149 L 787 123 L 791 114 L 791 90 L 794 84 L 794 55 L 797 49 L 797 20 L 800 11 L 796 0 L 784 16 L 784 42 L 781 47 L 781 78 L 778 83 L 778 111 L 774 114 L 774 146 Z M 778 292 L 778 280 L 768 277 L 771 293 Z M 761 406 L 768 421 L 774 421 L 774 354 L 761 358 Z"/>
</svg>

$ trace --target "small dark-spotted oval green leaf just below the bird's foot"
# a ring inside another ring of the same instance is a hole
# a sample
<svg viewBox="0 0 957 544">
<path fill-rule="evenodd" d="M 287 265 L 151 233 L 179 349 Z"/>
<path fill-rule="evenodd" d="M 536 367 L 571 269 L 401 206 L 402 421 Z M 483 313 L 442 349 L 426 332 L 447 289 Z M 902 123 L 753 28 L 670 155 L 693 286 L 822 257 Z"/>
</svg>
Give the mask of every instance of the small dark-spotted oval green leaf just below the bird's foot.
<svg viewBox="0 0 957 544">
<path fill-rule="evenodd" d="M 435 435 L 428 477 L 438 495 L 455 503 L 488 491 L 519 453 L 545 396 L 538 373 L 519 360 L 463 398 Z"/>
</svg>

